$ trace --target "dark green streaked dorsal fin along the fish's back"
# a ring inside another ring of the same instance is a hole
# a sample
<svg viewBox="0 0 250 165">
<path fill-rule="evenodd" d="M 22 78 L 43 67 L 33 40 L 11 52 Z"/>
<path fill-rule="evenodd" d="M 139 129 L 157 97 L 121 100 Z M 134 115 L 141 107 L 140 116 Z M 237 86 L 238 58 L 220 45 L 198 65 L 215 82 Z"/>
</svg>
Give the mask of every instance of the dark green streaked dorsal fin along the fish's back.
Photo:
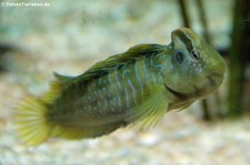
<svg viewBox="0 0 250 165">
<path fill-rule="evenodd" d="M 131 64 L 144 55 L 166 51 L 166 45 L 160 44 L 139 44 L 132 47 L 124 53 L 110 56 L 104 61 L 96 63 L 88 71 L 76 79 L 80 80 L 82 83 L 88 83 L 97 78 L 103 76 L 128 64 Z"/>
</svg>

